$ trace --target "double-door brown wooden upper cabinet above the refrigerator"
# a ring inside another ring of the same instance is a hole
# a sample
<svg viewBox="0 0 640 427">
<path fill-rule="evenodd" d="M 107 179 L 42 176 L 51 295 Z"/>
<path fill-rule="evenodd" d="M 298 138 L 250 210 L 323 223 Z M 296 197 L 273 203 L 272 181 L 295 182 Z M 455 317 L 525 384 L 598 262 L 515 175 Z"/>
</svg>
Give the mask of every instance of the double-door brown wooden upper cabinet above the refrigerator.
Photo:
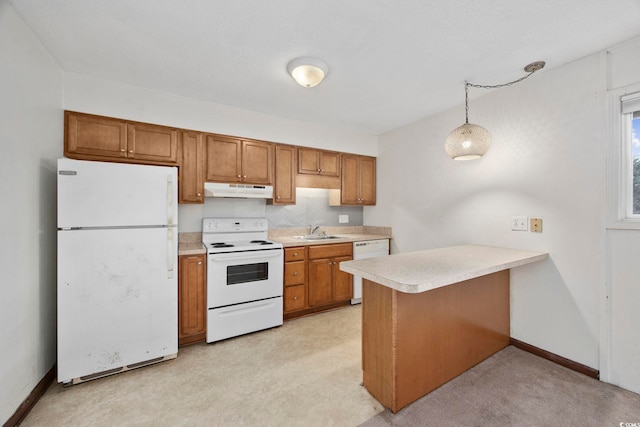
<svg viewBox="0 0 640 427">
<path fill-rule="evenodd" d="M 175 165 L 178 130 L 65 111 L 64 154 L 81 160 Z"/>
</svg>

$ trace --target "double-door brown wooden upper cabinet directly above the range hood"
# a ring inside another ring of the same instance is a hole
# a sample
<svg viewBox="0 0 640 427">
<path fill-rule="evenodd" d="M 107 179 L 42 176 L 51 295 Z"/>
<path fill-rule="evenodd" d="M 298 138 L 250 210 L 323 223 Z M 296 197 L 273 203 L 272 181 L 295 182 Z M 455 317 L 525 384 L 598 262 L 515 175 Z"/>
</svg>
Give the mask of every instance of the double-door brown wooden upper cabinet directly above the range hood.
<svg viewBox="0 0 640 427">
<path fill-rule="evenodd" d="M 271 185 L 273 144 L 207 135 L 206 181 Z"/>
</svg>

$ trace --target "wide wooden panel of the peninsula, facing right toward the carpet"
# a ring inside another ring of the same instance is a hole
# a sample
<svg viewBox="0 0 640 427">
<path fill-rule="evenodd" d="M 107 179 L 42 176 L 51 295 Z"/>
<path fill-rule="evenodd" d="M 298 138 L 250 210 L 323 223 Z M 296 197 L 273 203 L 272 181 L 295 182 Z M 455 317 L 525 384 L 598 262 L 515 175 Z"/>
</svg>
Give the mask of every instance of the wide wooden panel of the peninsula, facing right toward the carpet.
<svg viewBox="0 0 640 427">
<path fill-rule="evenodd" d="M 397 295 L 397 412 L 509 345 L 509 271 Z"/>
</svg>

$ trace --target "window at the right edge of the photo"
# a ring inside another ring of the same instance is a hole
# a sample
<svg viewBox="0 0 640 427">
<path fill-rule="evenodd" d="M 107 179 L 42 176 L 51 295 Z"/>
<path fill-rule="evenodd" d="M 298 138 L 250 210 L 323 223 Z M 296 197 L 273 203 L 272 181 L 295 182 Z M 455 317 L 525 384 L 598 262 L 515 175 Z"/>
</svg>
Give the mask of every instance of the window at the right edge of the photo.
<svg viewBox="0 0 640 427">
<path fill-rule="evenodd" d="M 622 106 L 623 155 L 626 168 L 626 217 L 640 219 L 640 92 L 620 98 Z"/>
</svg>

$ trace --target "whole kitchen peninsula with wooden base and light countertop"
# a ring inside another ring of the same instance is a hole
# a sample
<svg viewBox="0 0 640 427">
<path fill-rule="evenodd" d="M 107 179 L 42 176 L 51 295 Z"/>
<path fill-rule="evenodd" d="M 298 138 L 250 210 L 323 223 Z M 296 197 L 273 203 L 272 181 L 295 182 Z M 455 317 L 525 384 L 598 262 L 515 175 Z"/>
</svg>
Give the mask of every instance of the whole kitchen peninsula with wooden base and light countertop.
<svg viewBox="0 0 640 427">
<path fill-rule="evenodd" d="M 509 345 L 509 269 L 544 252 L 454 246 L 347 261 L 363 277 L 367 390 L 397 412 Z"/>
</svg>

